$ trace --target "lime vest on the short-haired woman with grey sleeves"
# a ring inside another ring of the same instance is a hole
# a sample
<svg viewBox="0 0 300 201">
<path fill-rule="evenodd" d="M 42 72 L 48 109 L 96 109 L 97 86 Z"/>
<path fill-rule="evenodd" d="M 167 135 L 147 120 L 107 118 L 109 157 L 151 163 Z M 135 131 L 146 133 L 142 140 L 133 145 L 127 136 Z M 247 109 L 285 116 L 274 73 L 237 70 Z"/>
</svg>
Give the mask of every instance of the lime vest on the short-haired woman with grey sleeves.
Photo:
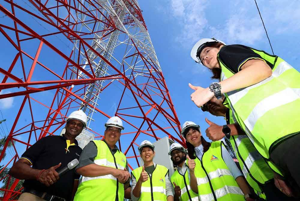
<svg viewBox="0 0 300 201">
<path fill-rule="evenodd" d="M 133 170 L 131 174 L 136 178 L 138 181 L 141 175 L 143 167 L 138 167 L 137 169 Z M 141 195 L 139 200 L 163 200 L 167 201 L 166 196 L 166 181 L 165 177 L 169 174 L 169 169 L 156 164 L 155 169 L 146 182 L 143 182 L 141 187 Z"/>
</svg>

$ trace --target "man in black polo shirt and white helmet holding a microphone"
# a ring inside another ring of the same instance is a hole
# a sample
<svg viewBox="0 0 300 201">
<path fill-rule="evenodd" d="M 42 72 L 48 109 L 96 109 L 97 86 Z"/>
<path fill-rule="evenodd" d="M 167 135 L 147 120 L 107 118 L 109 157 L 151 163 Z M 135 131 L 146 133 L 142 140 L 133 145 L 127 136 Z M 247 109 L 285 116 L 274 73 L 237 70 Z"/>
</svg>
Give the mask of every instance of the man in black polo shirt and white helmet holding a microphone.
<svg viewBox="0 0 300 201">
<path fill-rule="evenodd" d="M 19 200 L 71 200 L 78 187 L 80 175 L 74 170 L 59 176 L 58 171 L 82 152 L 75 138 L 86 126 L 87 116 L 74 111 L 66 120 L 62 136 L 47 136 L 38 140 L 11 167 L 9 174 L 25 179 Z M 32 167 L 30 167 L 32 165 Z"/>
</svg>

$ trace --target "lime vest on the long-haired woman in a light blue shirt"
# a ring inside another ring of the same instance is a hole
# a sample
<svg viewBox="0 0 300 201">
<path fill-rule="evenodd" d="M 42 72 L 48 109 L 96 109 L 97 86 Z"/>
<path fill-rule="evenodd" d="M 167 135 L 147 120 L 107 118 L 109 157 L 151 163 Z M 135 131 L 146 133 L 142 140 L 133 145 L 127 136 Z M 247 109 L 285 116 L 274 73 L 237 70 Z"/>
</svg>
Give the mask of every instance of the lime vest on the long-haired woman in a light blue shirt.
<svg viewBox="0 0 300 201">
<path fill-rule="evenodd" d="M 244 200 L 243 192 L 223 161 L 222 143 L 212 142 L 202 155 L 202 160 L 197 157 L 195 159 L 195 176 L 202 201 Z"/>
</svg>

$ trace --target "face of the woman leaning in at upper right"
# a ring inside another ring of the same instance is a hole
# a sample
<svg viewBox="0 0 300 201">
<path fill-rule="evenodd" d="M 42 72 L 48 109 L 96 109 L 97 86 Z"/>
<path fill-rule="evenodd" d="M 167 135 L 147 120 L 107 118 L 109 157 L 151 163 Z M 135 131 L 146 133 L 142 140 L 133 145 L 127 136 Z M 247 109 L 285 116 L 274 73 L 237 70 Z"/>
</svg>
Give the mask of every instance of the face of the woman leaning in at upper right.
<svg viewBox="0 0 300 201">
<path fill-rule="evenodd" d="M 207 46 L 202 49 L 200 53 L 200 60 L 205 67 L 208 67 L 209 69 L 220 68 L 217 60 L 217 54 L 220 51 L 221 47 L 223 47 L 223 45 L 219 48 Z"/>
</svg>

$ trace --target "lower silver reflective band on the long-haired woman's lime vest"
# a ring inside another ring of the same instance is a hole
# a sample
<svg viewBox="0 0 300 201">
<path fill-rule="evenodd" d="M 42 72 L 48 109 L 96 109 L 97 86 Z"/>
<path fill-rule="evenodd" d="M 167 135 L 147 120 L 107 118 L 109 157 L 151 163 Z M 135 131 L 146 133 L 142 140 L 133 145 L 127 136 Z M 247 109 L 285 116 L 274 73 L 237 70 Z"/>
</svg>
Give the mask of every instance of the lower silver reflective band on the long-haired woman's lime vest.
<svg viewBox="0 0 300 201">
<path fill-rule="evenodd" d="M 224 186 L 222 188 L 215 190 L 214 193 L 215 193 L 217 199 L 228 193 L 244 195 L 243 192 L 241 191 L 241 189 L 239 187 L 235 187 L 235 186 Z M 212 193 L 205 194 L 205 195 L 199 195 L 199 196 L 200 196 L 201 201 L 214 200 L 214 196 Z"/>
</svg>

